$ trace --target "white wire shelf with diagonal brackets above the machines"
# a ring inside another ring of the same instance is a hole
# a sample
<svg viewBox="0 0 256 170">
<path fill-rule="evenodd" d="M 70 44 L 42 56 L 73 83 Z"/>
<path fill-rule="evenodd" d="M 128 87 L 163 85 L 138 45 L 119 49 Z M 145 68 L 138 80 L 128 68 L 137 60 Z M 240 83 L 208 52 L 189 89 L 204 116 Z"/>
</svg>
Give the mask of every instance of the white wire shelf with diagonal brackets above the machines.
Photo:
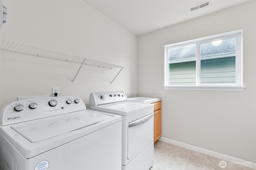
<svg viewBox="0 0 256 170">
<path fill-rule="evenodd" d="M 60 52 L 56 52 L 56 51 L 50 51 L 47 49 L 42 49 L 42 48 L 30 46 L 30 45 L 24 45 L 24 44 L 20 44 L 20 43 L 10 42 L 10 41 L 6 41 L 6 40 L 2 40 L 2 39 L 0 39 L 0 50 L 11 51 L 11 52 L 15 52 L 15 53 L 22 53 L 22 54 L 26 54 L 26 55 L 33 55 L 33 56 L 37 56 L 37 57 L 44 57 L 44 58 L 48 58 L 48 59 L 55 59 L 55 60 L 60 60 L 60 61 L 78 63 L 78 64 L 81 64 L 80 68 L 82 67 L 82 65 L 97 66 L 97 67 L 109 68 L 109 69 L 119 68 L 121 70 L 124 68 L 124 66 L 119 66 L 116 64 L 110 64 L 110 63 L 105 63 L 102 61 L 96 61 L 96 60 L 92 60 L 92 59 L 78 57 L 75 55 L 69 55 L 69 54 L 60 53 Z M 80 71 L 80 68 L 79 68 L 78 72 Z M 76 73 L 76 76 L 77 76 L 78 72 Z M 118 72 L 118 74 L 119 73 L 120 72 Z M 76 78 L 76 76 L 75 76 L 75 78 Z M 112 82 L 113 81 L 114 80 L 112 80 Z M 72 83 L 73 82 L 74 82 L 74 80 L 72 81 Z"/>
</svg>

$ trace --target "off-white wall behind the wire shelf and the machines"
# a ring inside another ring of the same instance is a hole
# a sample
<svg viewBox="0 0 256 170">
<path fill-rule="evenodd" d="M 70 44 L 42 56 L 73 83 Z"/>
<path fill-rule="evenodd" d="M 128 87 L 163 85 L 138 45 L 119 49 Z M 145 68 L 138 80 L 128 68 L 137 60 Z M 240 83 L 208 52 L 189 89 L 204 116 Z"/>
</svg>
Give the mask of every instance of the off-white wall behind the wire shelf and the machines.
<svg viewBox="0 0 256 170">
<path fill-rule="evenodd" d="M 0 38 L 52 51 L 125 66 L 120 69 L 83 66 L 71 84 L 80 64 L 0 51 L 0 106 L 18 96 L 77 96 L 88 106 L 90 92 L 137 87 L 136 36 L 94 10 L 82 0 L 4 0 L 8 19 Z"/>
</svg>

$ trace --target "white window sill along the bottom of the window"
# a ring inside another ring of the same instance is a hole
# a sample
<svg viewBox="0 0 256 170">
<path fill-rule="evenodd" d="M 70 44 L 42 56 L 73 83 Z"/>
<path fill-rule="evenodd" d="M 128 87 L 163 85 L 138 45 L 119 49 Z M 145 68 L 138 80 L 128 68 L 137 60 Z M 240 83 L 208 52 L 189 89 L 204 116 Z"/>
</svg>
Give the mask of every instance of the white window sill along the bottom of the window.
<svg viewBox="0 0 256 170">
<path fill-rule="evenodd" d="M 164 90 L 201 90 L 201 91 L 227 91 L 244 92 L 246 87 L 235 86 L 163 86 Z"/>
</svg>

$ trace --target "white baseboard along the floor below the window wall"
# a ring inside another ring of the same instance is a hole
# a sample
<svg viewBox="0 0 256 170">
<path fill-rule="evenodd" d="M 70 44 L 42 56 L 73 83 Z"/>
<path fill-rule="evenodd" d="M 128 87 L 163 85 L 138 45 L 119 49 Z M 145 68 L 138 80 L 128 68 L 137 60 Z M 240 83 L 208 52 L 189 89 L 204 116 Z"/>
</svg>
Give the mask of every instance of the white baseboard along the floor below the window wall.
<svg viewBox="0 0 256 170">
<path fill-rule="evenodd" d="M 238 162 L 238 164 L 240 164 L 240 165 L 245 165 L 248 168 L 252 168 L 252 169 L 256 170 L 256 163 L 254 163 L 254 162 L 249 162 L 249 161 L 242 160 L 242 159 L 239 159 L 239 158 L 234 158 L 232 156 L 228 156 L 228 155 L 225 155 L 225 154 L 214 152 L 212 150 L 203 149 L 203 148 L 200 148 L 200 147 L 195 147 L 193 145 L 188 145 L 186 143 L 174 141 L 172 139 L 168 139 L 168 138 L 165 138 L 165 137 L 160 137 L 158 140 L 166 142 L 166 143 L 170 143 L 170 144 L 173 144 L 173 145 L 177 145 L 179 147 L 183 147 L 183 148 L 186 148 L 186 149 L 194 150 L 196 152 L 207 154 L 207 155 L 213 156 L 215 158 L 219 158 L 219 159 L 226 160 L 226 161 L 229 161 L 229 162 Z"/>
</svg>

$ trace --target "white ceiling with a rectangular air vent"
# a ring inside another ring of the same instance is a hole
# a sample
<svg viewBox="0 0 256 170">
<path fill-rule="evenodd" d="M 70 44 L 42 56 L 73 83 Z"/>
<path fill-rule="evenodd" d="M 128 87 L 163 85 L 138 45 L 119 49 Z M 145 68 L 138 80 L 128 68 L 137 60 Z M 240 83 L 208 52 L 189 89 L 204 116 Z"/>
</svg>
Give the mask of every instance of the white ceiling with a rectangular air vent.
<svg viewBox="0 0 256 170">
<path fill-rule="evenodd" d="M 191 12 L 190 7 L 207 2 L 207 0 L 84 0 L 135 35 L 142 35 L 223 10 L 248 0 L 208 1 L 210 1 L 209 6 Z"/>
</svg>

